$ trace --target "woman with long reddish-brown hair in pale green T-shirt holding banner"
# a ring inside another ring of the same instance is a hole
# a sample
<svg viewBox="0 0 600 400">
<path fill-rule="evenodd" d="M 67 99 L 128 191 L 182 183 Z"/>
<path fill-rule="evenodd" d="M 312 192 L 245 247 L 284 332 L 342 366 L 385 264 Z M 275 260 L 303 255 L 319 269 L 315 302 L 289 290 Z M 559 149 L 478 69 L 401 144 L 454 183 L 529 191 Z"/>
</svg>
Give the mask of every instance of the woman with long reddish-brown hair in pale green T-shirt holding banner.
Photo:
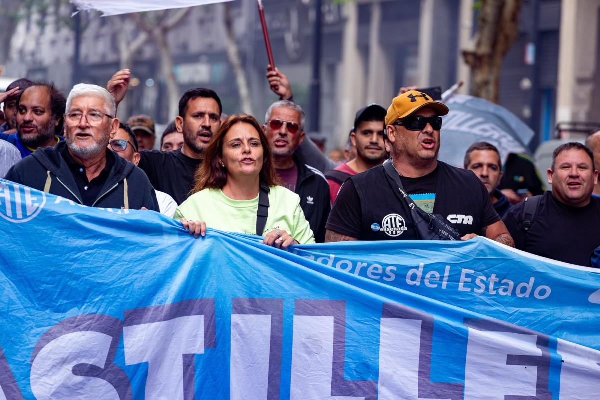
<svg viewBox="0 0 600 400">
<path fill-rule="evenodd" d="M 297 194 L 281 186 L 268 140 L 249 115 L 233 115 L 221 125 L 203 154 L 192 195 L 175 219 L 190 234 L 206 227 L 265 236 L 266 245 L 287 248 L 314 243 Z"/>
</svg>

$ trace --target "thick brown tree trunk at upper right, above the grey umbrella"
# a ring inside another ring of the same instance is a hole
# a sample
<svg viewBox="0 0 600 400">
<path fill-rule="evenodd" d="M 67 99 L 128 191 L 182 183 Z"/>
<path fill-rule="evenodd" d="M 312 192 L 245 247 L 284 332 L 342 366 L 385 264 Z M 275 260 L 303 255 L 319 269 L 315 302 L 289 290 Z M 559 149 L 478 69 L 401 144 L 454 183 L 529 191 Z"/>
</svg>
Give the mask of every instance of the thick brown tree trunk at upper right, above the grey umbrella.
<svg viewBox="0 0 600 400">
<path fill-rule="evenodd" d="M 522 0 L 482 0 L 475 50 L 463 50 L 472 94 L 498 103 L 502 61 L 518 37 Z"/>
</svg>

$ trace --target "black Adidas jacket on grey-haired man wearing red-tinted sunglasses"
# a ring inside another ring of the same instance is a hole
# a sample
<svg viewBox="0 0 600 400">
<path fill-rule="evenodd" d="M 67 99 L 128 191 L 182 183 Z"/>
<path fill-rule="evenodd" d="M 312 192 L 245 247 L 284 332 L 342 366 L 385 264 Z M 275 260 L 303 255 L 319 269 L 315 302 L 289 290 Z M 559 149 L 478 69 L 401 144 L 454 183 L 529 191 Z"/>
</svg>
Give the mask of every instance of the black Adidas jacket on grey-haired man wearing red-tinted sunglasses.
<svg viewBox="0 0 600 400">
<path fill-rule="evenodd" d="M 325 175 L 319 170 L 308 166 L 299 157 L 294 157 L 298 168 L 298 183 L 296 194 L 300 196 L 300 206 L 304 211 L 310 228 L 317 243 L 325 242 L 325 224 L 331 212 L 331 197 L 329 184 Z"/>
</svg>

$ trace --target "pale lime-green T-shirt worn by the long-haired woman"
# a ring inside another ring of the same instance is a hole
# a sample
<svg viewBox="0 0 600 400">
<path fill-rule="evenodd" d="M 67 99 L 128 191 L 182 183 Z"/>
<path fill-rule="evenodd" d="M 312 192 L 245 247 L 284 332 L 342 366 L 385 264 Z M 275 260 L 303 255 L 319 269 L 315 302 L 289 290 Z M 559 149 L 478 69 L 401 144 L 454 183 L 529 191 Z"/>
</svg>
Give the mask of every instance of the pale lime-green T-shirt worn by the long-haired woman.
<svg viewBox="0 0 600 400">
<path fill-rule="evenodd" d="M 206 222 L 206 227 L 218 230 L 256 234 L 256 212 L 259 197 L 252 200 L 233 200 L 220 189 L 205 189 L 193 194 L 175 210 L 175 219 Z M 314 243 L 314 234 L 300 207 L 300 197 L 281 186 L 271 187 L 269 216 L 265 236 L 275 229 L 287 231 L 302 245 Z"/>
</svg>

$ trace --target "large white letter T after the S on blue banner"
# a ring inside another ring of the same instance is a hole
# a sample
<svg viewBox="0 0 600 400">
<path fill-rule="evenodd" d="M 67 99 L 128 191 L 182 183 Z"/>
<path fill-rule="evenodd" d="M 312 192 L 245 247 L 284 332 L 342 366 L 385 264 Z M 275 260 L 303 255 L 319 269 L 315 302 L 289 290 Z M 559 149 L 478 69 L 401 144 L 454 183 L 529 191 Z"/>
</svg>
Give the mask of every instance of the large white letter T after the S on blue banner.
<svg viewBox="0 0 600 400">
<path fill-rule="evenodd" d="M 125 365 L 148 362 L 146 399 L 184 398 L 184 354 L 204 354 L 204 315 L 125 326 Z"/>
</svg>

